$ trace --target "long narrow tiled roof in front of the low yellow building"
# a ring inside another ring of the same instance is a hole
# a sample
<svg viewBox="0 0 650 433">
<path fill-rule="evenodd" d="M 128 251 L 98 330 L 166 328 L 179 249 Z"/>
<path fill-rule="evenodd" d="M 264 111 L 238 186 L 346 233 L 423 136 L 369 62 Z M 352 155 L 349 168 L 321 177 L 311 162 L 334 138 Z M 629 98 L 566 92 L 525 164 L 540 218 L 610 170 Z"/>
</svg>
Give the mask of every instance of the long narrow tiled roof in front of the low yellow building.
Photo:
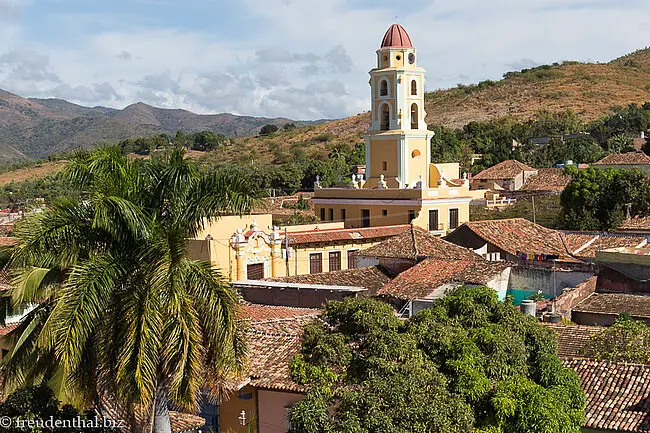
<svg viewBox="0 0 650 433">
<path fill-rule="evenodd" d="M 391 277 L 379 266 L 268 279 L 286 283 L 364 287 L 366 292 L 362 293 L 362 296 L 374 296 L 390 280 Z"/>
</svg>

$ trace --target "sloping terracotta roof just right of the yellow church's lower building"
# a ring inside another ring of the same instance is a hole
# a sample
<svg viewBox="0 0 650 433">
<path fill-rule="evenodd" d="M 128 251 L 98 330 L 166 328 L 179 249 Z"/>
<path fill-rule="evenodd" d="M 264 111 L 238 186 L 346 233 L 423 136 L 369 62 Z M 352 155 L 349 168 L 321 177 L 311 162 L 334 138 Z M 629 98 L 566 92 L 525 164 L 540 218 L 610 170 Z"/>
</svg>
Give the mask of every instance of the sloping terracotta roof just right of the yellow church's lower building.
<svg viewBox="0 0 650 433">
<path fill-rule="evenodd" d="M 512 255 L 517 255 L 519 251 L 526 254 L 557 255 L 561 261 L 578 261 L 569 256 L 560 232 L 525 218 L 470 221 L 463 226 Z"/>
</svg>

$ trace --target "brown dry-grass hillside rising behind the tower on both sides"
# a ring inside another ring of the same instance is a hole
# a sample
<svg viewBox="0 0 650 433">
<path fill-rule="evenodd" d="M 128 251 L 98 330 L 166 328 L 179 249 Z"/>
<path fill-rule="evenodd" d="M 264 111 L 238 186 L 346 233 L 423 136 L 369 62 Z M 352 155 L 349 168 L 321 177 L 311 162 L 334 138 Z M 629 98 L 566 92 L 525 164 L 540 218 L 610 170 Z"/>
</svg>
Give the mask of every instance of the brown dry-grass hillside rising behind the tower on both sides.
<svg viewBox="0 0 650 433">
<path fill-rule="evenodd" d="M 429 126 L 461 128 L 472 121 L 503 117 L 526 121 L 540 110 L 572 110 L 589 122 L 611 113 L 614 107 L 646 101 L 650 101 L 650 49 L 638 50 L 609 63 L 565 61 L 508 72 L 499 81 L 428 92 L 425 110 Z M 239 147 L 237 153 L 278 153 L 280 143 L 286 151 L 307 144 L 302 147 L 307 154 L 323 156 L 332 147 L 362 142 L 369 123 L 370 114 L 363 113 L 274 137 L 247 137 L 238 140 L 244 149 Z M 226 156 L 234 159 L 233 155 Z"/>
</svg>

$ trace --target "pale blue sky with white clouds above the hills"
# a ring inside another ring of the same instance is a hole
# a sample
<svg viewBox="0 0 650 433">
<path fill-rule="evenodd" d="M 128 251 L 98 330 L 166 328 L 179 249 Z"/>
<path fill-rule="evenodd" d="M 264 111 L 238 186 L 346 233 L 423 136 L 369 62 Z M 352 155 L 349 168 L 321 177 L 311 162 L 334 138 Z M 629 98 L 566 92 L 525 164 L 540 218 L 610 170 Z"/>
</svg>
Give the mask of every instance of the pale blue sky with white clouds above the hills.
<svg viewBox="0 0 650 433">
<path fill-rule="evenodd" d="M 0 89 L 123 108 L 342 118 L 403 25 L 427 90 L 650 45 L 648 0 L 0 0 Z"/>
</svg>

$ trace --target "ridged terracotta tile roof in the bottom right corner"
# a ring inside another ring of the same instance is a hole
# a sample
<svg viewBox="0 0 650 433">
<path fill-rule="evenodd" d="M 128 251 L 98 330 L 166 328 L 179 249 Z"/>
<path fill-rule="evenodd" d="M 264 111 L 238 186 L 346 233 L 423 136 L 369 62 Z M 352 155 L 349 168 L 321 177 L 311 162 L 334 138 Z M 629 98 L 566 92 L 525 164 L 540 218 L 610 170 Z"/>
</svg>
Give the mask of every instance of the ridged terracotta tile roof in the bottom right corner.
<svg viewBox="0 0 650 433">
<path fill-rule="evenodd" d="M 650 365 L 591 359 L 563 362 L 585 392 L 585 427 L 603 431 L 650 432 Z"/>
</svg>

